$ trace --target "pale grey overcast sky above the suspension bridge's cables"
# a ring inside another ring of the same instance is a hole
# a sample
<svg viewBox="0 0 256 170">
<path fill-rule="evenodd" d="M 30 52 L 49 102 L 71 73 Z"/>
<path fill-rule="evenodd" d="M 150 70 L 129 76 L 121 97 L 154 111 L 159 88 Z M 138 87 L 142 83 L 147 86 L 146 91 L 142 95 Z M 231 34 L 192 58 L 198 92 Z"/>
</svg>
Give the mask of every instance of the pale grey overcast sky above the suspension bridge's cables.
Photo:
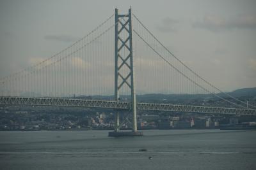
<svg viewBox="0 0 256 170">
<path fill-rule="evenodd" d="M 225 91 L 256 87 L 256 1 L 0 1 L 0 76 L 47 59 L 116 7 Z"/>
</svg>

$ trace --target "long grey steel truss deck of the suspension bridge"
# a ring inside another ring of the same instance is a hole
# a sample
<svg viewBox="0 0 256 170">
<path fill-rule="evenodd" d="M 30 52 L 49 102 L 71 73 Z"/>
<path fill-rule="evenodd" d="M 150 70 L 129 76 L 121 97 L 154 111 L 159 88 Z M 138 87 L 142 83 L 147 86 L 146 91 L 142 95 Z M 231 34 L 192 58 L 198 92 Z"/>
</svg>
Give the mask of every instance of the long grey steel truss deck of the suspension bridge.
<svg viewBox="0 0 256 170">
<path fill-rule="evenodd" d="M 131 104 L 117 101 L 99 101 L 50 97 L 3 97 L 0 96 L 1 105 L 30 105 L 30 106 L 70 106 L 85 108 L 111 108 L 130 110 Z M 205 106 L 186 106 L 178 104 L 137 103 L 138 110 L 175 111 L 188 113 L 211 113 L 230 115 L 256 116 L 256 110 L 237 108 L 217 108 Z"/>
</svg>

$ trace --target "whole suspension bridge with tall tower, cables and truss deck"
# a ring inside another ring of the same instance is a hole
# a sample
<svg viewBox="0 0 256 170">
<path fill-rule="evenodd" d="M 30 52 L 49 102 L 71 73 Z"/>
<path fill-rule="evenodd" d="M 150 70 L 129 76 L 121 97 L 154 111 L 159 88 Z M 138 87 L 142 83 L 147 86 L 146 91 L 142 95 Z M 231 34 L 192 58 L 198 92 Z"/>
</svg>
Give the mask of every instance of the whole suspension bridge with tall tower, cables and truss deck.
<svg viewBox="0 0 256 170">
<path fill-rule="evenodd" d="M 135 76 L 136 75 L 136 76 Z M 1 105 L 68 106 L 229 115 L 256 115 L 256 106 L 230 96 L 174 55 L 131 12 L 107 18 L 64 50 L 0 79 Z M 136 101 L 136 94 L 209 94 L 220 106 Z M 88 99 L 88 96 L 94 99 Z M 102 96 L 113 96 L 111 100 Z M 115 134 L 114 134 L 115 135 Z"/>
</svg>

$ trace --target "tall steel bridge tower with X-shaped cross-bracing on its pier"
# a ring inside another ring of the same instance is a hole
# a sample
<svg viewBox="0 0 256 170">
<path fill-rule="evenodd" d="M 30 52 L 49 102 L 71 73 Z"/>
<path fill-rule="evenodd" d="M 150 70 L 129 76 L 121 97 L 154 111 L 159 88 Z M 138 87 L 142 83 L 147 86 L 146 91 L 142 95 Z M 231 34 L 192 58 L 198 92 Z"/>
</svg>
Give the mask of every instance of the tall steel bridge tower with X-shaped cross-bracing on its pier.
<svg viewBox="0 0 256 170">
<path fill-rule="evenodd" d="M 125 54 L 124 55 L 124 51 Z M 136 91 L 132 55 L 132 13 L 119 14 L 115 9 L 115 100 L 120 101 L 119 91 L 127 85 L 131 90 L 132 132 L 120 132 L 120 113 L 115 113 L 115 131 L 109 136 L 143 136 L 137 131 Z"/>
</svg>

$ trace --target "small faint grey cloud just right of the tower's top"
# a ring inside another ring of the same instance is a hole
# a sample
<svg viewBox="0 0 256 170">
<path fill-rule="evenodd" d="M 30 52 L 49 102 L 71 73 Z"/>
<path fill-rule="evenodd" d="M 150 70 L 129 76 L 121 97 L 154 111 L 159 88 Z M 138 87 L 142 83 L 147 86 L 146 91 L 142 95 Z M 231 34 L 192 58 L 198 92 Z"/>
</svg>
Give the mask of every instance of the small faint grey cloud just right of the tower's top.
<svg viewBox="0 0 256 170">
<path fill-rule="evenodd" d="M 175 25 L 178 23 L 179 23 L 178 20 L 167 17 L 167 18 L 164 18 L 162 20 L 162 24 L 160 24 L 156 28 L 160 32 L 176 32 L 177 29 L 175 29 Z"/>
</svg>

